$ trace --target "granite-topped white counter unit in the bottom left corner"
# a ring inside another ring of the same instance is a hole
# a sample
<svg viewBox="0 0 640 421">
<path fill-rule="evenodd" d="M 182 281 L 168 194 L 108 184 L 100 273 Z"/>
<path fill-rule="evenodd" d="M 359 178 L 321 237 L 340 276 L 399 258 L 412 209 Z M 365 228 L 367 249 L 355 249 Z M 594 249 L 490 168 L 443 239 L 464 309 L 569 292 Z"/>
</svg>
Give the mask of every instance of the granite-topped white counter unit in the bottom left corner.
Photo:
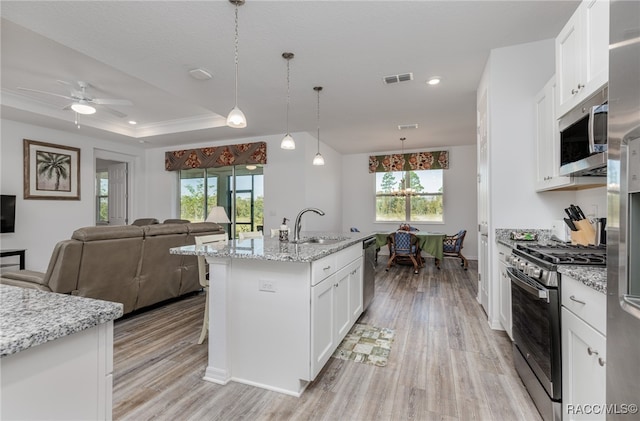
<svg viewBox="0 0 640 421">
<path fill-rule="evenodd" d="M 0 285 L 1 419 L 111 419 L 120 303 Z"/>
</svg>

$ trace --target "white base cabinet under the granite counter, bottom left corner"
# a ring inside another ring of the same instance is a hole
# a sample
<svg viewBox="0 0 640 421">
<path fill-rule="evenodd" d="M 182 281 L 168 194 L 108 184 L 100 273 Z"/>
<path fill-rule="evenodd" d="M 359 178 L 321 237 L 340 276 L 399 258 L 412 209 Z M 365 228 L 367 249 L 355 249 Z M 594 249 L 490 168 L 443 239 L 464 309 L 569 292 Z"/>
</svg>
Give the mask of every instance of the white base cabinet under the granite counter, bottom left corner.
<svg viewBox="0 0 640 421">
<path fill-rule="evenodd" d="M 0 418 L 110 420 L 113 321 L 0 359 Z"/>
</svg>

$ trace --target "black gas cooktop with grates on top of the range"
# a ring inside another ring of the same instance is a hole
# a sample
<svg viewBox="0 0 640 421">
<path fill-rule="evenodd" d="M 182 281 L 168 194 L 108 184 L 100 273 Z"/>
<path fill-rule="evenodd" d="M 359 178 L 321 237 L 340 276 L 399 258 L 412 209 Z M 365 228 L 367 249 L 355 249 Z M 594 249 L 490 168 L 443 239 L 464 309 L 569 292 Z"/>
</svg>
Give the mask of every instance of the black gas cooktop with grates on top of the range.
<svg viewBox="0 0 640 421">
<path fill-rule="evenodd" d="M 572 244 L 518 244 L 517 249 L 545 262 L 557 265 L 592 265 L 607 264 L 606 246 L 581 246 Z"/>
</svg>

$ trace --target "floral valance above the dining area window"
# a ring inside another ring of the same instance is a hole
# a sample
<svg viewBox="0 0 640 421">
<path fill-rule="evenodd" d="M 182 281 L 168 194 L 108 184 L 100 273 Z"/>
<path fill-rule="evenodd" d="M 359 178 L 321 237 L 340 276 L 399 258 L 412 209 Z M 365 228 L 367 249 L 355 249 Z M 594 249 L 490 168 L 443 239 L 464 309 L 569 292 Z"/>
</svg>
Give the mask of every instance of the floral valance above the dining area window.
<svg viewBox="0 0 640 421">
<path fill-rule="evenodd" d="M 369 156 L 369 172 L 448 170 L 449 151 Z"/>
</svg>

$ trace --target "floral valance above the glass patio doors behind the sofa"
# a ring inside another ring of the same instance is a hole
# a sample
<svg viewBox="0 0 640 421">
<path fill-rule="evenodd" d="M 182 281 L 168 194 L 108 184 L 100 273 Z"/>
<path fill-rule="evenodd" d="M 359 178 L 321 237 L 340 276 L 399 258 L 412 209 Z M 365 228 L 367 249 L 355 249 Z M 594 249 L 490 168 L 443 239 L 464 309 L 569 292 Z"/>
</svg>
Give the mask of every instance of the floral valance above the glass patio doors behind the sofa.
<svg viewBox="0 0 640 421">
<path fill-rule="evenodd" d="M 167 171 L 266 163 L 266 142 L 171 151 L 164 155 L 164 167 Z"/>
</svg>

